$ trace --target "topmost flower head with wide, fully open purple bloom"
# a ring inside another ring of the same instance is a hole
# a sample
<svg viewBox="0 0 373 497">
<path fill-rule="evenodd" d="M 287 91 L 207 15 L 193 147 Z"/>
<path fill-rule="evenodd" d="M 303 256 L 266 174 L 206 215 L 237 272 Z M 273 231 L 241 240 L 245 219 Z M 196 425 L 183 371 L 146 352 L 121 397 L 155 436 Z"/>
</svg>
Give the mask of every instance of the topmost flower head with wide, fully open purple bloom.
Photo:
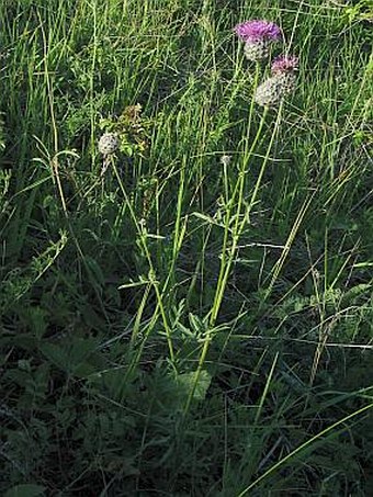
<svg viewBox="0 0 373 497">
<path fill-rule="evenodd" d="M 235 27 L 237 36 L 245 42 L 245 56 L 259 61 L 269 57 L 271 45 L 281 39 L 280 27 L 270 21 L 246 21 Z"/>
</svg>

